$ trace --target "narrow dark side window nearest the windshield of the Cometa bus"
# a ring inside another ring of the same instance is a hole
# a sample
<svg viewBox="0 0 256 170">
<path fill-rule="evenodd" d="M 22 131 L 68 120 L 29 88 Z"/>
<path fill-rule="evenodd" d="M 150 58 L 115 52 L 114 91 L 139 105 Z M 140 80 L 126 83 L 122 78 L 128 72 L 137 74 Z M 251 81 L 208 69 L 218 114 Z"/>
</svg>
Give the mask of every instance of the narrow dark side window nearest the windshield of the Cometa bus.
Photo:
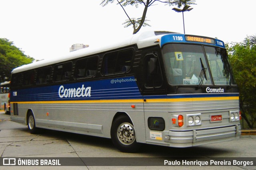
<svg viewBox="0 0 256 170">
<path fill-rule="evenodd" d="M 156 55 L 149 54 L 144 58 L 144 85 L 146 88 L 162 86 L 163 78 L 161 74 L 159 60 Z"/>
</svg>

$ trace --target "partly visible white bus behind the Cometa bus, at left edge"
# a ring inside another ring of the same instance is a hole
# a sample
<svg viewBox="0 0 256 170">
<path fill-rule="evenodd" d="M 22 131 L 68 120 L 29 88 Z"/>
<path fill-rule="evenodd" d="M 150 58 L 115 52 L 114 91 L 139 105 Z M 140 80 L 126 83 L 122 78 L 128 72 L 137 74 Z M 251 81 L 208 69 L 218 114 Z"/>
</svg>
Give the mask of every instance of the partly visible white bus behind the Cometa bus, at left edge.
<svg viewBox="0 0 256 170">
<path fill-rule="evenodd" d="M 0 109 L 10 113 L 10 82 L 1 83 L 0 88 Z"/>
</svg>

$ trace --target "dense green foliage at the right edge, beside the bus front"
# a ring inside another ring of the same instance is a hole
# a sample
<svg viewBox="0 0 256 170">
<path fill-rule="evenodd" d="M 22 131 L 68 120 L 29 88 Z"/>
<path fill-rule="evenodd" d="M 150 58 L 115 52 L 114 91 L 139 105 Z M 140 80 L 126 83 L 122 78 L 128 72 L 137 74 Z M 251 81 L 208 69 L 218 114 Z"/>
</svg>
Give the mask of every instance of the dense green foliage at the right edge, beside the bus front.
<svg viewBox="0 0 256 170">
<path fill-rule="evenodd" d="M 256 39 L 248 36 L 242 43 L 228 47 L 234 78 L 240 91 L 240 109 L 249 127 L 256 123 Z M 250 121 L 249 121 L 250 120 Z"/>
</svg>

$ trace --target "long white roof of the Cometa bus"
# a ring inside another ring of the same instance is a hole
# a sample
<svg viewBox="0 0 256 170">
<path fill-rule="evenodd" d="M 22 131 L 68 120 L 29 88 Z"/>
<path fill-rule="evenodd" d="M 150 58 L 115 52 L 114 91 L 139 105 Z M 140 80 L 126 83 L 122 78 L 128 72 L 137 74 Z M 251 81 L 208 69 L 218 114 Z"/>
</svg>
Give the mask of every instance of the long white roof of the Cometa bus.
<svg viewBox="0 0 256 170">
<path fill-rule="evenodd" d="M 84 57 L 84 56 L 94 55 L 94 54 L 101 53 L 104 51 L 118 49 L 120 47 L 126 47 L 128 45 L 136 44 L 138 48 L 148 47 L 148 46 L 152 46 L 152 45 L 156 45 L 156 44 L 160 45 L 161 42 L 155 41 L 155 40 L 161 39 L 162 36 L 164 36 L 166 34 L 171 34 L 171 33 L 174 33 L 174 32 L 146 31 L 146 32 L 142 32 L 142 33 L 137 33 L 137 34 L 130 36 L 129 38 L 122 39 L 121 41 L 116 41 L 115 43 L 113 43 L 111 45 L 105 44 L 105 45 L 90 46 L 88 48 L 70 52 L 69 54 L 67 54 L 65 56 L 60 56 L 60 57 L 52 56 L 51 59 L 26 64 L 26 65 L 14 68 L 14 70 L 12 70 L 12 73 L 22 72 L 22 71 L 42 67 L 42 66 L 48 66 L 51 64 L 60 63 L 60 62 Z M 111 41 L 113 41 L 113 40 L 111 40 Z"/>
</svg>

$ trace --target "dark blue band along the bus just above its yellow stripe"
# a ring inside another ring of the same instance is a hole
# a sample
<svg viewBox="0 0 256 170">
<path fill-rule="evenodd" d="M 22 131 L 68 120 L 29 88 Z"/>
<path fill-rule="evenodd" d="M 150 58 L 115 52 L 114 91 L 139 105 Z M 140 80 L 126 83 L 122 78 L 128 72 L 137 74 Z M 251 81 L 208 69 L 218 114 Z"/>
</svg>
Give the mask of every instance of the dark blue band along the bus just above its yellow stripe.
<svg viewBox="0 0 256 170">
<path fill-rule="evenodd" d="M 76 101 L 76 100 L 132 100 L 132 99 L 189 99 L 189 98 L 238 97 L 237 93 L 176 94 L 142 96 L 136 79 L 131 77 L 91 82 L 77 82 L 11 92 L 11 102 Z"/>
</svg>

